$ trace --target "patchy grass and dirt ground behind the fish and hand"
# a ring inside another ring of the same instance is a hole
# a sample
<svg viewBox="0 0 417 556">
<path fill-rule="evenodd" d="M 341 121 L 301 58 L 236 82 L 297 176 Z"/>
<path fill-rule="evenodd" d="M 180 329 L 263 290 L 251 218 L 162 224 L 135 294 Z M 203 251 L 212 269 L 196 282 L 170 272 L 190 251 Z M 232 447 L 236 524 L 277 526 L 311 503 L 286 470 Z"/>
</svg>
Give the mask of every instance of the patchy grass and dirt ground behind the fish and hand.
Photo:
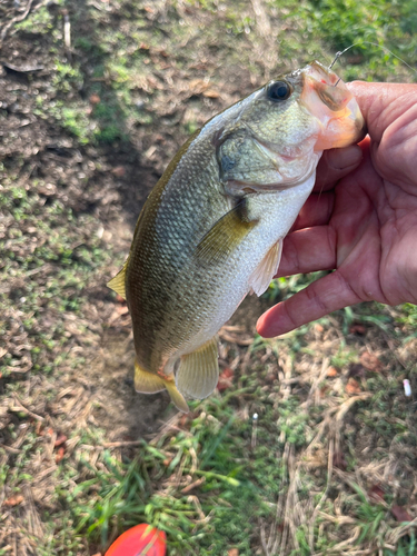
<svg viewBox="0 0 417 556">
<path fill-rule="evenodd" d="M 172 417 L 160 398 L 152 411 L 117 405 L 130 395 L 130 324 L 103 286 L 148 182 L 211 115 L 356 42 L 337 64 L 344 79 L 415 81 L 365 42 L 415 64 L 414 3 L 96 3 L 41 6 L 8 38 L 11 57 L 26 40 L 39 48 L 46 70 L 8 82 L 26 111 L 0 115 L 33 128 L 0 167 L 0 554 L 102 553 L 139 522 L 167 532 L 170 556 L 414 554 L 414 525 L 391 510 L 417 509 L 415 405 L 403 394 L 404 378 L 417 388 L 415 306 L 360 305 L 247 347 L 232 330 L 220 345 L 231 386 Z M 264 300 L 319 276 L 281 278 Z M 165 423 L 157 436 L 117 421 L 147 411 Z"/>
</svg>

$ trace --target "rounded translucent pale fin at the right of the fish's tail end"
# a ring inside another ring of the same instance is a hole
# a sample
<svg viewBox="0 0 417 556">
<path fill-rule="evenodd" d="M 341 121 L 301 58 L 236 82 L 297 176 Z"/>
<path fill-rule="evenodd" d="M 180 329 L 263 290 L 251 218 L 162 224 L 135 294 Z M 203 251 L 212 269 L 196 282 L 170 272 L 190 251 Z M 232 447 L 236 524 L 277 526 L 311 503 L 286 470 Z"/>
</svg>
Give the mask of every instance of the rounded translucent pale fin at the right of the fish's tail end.
<svg viewBox="0 0 417 556">
<path fill-rule="evenodd" d="M 219 379 L 217 340 L 211 338 L 192 354 L 181 357 L 176 376 L 178 389 L 192 398 L 207 398 Z"/>
</svg>

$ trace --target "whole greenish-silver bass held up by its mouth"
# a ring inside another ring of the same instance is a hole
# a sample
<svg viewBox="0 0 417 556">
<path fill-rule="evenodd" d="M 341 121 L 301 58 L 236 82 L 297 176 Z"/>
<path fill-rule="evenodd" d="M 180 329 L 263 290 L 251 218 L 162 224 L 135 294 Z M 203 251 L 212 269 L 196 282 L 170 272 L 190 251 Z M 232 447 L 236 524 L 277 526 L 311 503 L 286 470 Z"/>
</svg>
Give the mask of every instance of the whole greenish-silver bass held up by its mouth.
<svg viewBox="0 0 417 556">
<path fill-rule="evenodd" d="M 216 388 L 216 335 L 276 275 L 282 240 L 315 183 L 322 151 L 365 123 L 345 83 L 312 61 L 208 120 L 148 196 L 130 252 L 108 286 L 132 319 L 135 388 L 167 389 L 177 408 Z"/>
</svg>

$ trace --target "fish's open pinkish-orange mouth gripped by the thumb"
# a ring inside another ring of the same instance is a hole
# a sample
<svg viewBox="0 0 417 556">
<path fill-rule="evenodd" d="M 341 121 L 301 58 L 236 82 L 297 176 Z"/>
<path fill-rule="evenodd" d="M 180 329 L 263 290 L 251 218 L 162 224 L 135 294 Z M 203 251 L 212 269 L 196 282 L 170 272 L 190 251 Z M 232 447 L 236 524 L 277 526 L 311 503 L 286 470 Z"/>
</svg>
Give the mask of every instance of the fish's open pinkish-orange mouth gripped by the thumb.
<svg viewBox="0 0 417 556">
<path fill-rule="evenodd" d="M 364 139 L 365 120 L 345 82 L 318 61 L 309 63 L 301 73 L 300 100 L 320 127 L 315 150 L 347 147 Z"/>
</svg>

